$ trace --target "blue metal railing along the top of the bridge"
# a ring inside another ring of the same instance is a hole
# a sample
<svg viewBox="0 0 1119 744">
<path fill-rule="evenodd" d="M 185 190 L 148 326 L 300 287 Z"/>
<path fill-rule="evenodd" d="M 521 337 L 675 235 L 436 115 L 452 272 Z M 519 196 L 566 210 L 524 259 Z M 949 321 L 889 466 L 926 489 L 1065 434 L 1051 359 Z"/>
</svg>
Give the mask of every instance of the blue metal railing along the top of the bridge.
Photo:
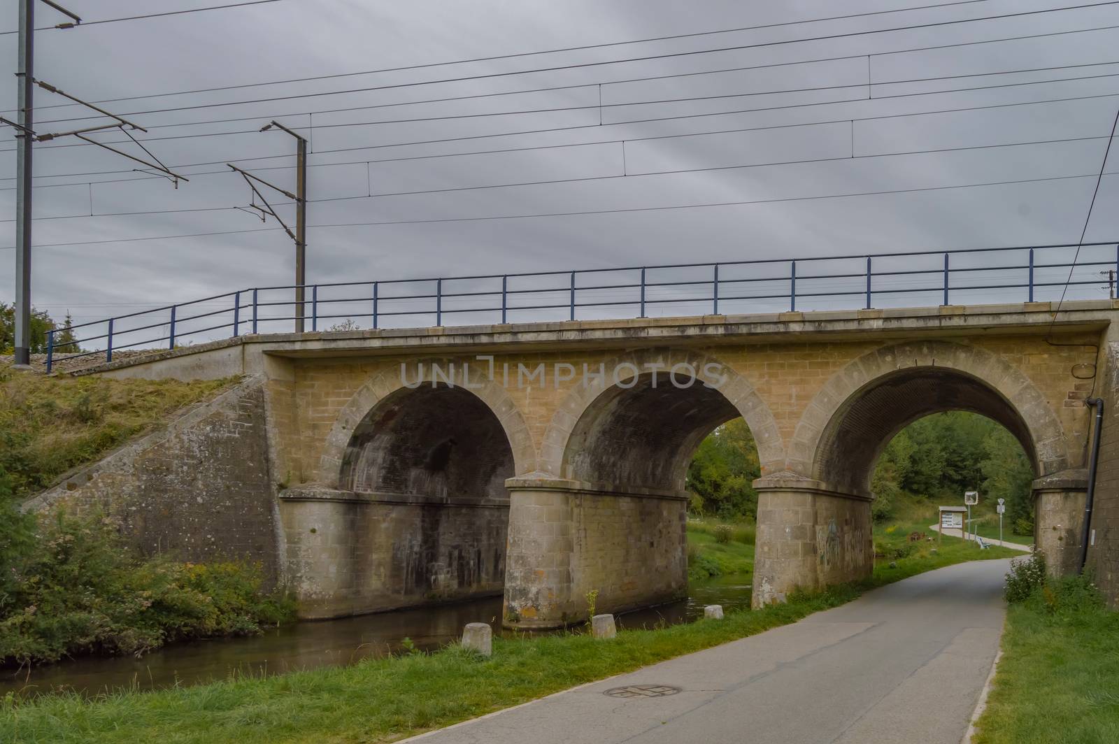
<svg viewBox="0 0 1119 744">
<path fill-rule="evenodd" d="M 927 296 L 930 304 L 951 304 L 960 295 L 976 298 L 972 303 L 980 304 L 989 302 L 993 293 L 1009 291 L 1009 301 L 1033 302 L 1036 294 L 1055 293 L 1056 288 L 1062 294 L 1069 289 L 1075 294 L 1078 286 L 1097 285 L 1113 295 L 1117 274 L 1084 279 L 1085 271 L 1099 273 L 1100 267 L 1106 267 L 1104 274 L 1119 274 L 1119 243 L 337 282 L 305 285 L 310 301 L 304 292 L 302 303 L 290 299 L 298 289 L 294 285 L 258 286 L 78 323 L 69 330 L 90 329 L 94 335 L 66 343 L 55 342 L 63 329 L 51 330 L 47 370 L 53 369 L 55 355 L 67 348 L 95 343 L 101 348 L 67 354 L 67 359 L 103 355 L 112 361 L 113 352 L 121 349 L 173 349 L 201 335 L 215 340 L 275 329 L 278 323 L 305 319 L 308 305 L 311 330 L 318 331 L 320 323 L 339 319 L 345 319 L 342 326 L 330 330 L 366 324 L 376 329 L 405 318 L 421 319 L 412 327 L 424 326 L 422 319 L 439 327 L 448 318 L 461 324 L 467 324 L 463 319 L 508 323 L 646 318 L 660 309 L 676 310 L 675 314 L 796 311 L 798 307 L 869 309 L 876 300 L 895 298 L 896 302 L 896 298 L 915 294 Z"/>
</svg>

